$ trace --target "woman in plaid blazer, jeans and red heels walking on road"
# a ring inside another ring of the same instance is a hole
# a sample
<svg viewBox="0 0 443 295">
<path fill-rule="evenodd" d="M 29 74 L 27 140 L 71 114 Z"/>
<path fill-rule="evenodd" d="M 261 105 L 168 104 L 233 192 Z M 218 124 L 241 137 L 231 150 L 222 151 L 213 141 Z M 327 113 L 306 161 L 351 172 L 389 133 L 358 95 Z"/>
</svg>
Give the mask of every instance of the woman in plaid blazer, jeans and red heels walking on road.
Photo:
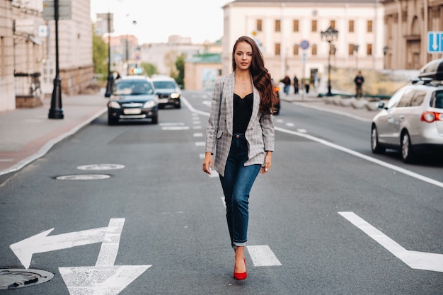
<svg viewBox="0 0 443 295">
<path fill-rule="evenodd" d="M 214 165 L 219 173 L 235 253 L 234 278 L 246 279 L 249 193 L 258 173 L 271 168 L 276 97 L 263 55 L 251 37 L 236 40 L 232 59 L 233 73 L 215 81 L 203 171 L 210 175 Z"/>
</svg>

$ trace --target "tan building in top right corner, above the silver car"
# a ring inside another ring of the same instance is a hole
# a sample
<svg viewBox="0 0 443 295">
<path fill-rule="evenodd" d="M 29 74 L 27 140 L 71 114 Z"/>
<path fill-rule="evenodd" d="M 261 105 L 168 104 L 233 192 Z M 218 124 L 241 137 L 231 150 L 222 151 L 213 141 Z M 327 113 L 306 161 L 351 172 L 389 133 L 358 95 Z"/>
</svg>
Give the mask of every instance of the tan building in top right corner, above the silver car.
<svg viewBox="0 0 443 295">
<path fill-rule="evenodd" d="M 428 32 L 443 31 L 443 0 L 381 0 L 387 69 L 420 69 L 440 53 L 428 53 Z"/>
</svg>

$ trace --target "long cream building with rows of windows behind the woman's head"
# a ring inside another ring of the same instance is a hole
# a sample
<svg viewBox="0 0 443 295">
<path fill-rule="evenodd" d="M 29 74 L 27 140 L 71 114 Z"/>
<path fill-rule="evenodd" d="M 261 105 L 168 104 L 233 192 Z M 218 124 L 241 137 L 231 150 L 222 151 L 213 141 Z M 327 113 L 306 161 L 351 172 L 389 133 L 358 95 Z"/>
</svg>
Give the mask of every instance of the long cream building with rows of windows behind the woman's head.
<svg viewBox="0 0 443 295">
<path fill-rule="evenodd" d="M 318 81 L 328 62 L 356 71 L 383 68 L 384 8 L 378 1 L 236 0 L 223 9 L 222 74 L 231 72 L 231 50 L 241 35 L 258 42 L 275 80 L 287 74 Z M 329 27 L 338 30 L 331 48 L 321 37 Z"/>
</svg>

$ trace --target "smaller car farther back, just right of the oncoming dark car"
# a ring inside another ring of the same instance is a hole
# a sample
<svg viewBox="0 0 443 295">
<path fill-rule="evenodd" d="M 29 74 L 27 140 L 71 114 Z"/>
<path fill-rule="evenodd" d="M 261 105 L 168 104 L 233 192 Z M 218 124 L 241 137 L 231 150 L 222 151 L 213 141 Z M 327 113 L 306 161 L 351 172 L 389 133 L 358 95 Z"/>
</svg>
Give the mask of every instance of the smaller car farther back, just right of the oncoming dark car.
<svg viewBox="0 0 443 295">
<path fill-rule="evenodd" d="M 164 108 L 166 105 L 172 105 L 174 108 L 181 108 L 181 91 L 176 80 L 168 76 L 154 76 L 152 82 L 159 95 L 159 106 Z"/>
</svg>

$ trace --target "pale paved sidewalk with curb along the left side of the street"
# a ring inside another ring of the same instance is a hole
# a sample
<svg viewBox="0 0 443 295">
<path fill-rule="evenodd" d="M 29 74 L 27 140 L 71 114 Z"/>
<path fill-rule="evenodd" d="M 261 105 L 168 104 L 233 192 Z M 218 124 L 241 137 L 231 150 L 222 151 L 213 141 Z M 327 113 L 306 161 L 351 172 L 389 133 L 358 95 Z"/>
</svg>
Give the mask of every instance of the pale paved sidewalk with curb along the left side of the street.
<svg viewBox="0 0 443 295">
<path fill-rule="evenodd" d="M 51 98 L 43 98 L 42 107 L 0 112 L 0 176 L 44 156 L 54 144 L 102 115 L 106 102 L 102 89 L 94 94 L 62 95 L 63 119 L 48 119 Z"/>
</svg>

